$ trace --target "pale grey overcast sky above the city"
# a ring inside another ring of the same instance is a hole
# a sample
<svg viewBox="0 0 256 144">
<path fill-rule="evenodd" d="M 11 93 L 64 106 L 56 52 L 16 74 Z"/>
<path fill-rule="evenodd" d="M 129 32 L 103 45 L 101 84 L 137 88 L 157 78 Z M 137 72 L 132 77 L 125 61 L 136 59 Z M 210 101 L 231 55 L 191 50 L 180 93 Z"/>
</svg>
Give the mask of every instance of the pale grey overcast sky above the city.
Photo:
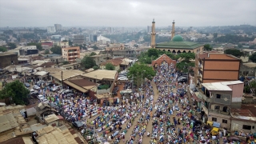
<svg viewBox="0 0 256 144">
<path fill-rule="evenodd" d="M 0 0 L 3 26 L 256 26 L 256 0 Z"/>
</svg>

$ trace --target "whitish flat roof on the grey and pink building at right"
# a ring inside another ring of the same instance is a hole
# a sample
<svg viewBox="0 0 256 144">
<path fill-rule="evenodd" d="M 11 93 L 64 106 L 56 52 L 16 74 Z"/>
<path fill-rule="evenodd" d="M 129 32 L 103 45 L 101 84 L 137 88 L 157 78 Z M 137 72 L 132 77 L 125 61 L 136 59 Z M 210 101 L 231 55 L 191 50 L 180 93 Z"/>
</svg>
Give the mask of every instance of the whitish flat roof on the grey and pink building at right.
<svg viewBox="0 0 256 144">
<path fill-rule="evenodd" d="M 228 82 L 210 82 L 202 83 L 202 86 L 206 87 L 207 90 L 220 90 L 220 91 L 231 91 L 228 85 L 241 84 L 241 81 L 228 81 Z"/>
</svg>

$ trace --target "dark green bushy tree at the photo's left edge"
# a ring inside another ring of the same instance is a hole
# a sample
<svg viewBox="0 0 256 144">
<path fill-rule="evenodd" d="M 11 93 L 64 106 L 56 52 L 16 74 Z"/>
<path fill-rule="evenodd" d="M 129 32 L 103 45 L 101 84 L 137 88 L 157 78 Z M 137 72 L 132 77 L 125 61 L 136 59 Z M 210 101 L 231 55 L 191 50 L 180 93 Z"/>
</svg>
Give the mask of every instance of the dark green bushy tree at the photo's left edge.
<svg viewBox="0 0 256 144">
<path fill-rule="evenodd" d="M 16 105 L 29 104 L 27 90 L 22 82 L 14 81 L 7 83 L 2 90 L 0 90 L 0 99 L 11 98 L 11 103 Z"/>
</svg>

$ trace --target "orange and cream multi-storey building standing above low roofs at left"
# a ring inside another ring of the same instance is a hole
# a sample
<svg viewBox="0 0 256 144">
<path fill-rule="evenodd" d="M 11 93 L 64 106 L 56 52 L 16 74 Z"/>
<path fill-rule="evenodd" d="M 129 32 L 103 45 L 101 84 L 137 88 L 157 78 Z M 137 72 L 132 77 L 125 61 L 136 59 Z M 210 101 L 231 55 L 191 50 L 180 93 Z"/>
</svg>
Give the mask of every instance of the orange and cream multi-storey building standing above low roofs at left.
<svg viewBox="0 0 256 144">
<path fill-rule="evenodd" d="M 80 58 L 80 47 L 62 48 L 62 57 L 65 58 L 66 61 L 74 62 L 77 58 Z"/>
</svg>

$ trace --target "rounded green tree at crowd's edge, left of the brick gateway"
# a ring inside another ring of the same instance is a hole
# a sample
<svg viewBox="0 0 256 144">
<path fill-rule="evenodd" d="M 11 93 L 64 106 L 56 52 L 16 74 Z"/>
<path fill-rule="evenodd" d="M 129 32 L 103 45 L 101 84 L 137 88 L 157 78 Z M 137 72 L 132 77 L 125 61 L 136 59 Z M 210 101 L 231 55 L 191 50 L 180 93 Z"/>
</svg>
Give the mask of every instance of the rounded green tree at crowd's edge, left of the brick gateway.
<svg viewBox="0 0 256 144">
<path fill-rule="evenodd" d="M 130 79 L 133 78 L 134 82 L 137 82 L 137 86 L 140 86 L 142 79 L 147 78 L 152 80 L 155 76 L 155 71 L 151 66 L 146 66 L 142 63 L 134 63 L 133 66 L 130 66 L 127 76 Z"/>
</svg>

